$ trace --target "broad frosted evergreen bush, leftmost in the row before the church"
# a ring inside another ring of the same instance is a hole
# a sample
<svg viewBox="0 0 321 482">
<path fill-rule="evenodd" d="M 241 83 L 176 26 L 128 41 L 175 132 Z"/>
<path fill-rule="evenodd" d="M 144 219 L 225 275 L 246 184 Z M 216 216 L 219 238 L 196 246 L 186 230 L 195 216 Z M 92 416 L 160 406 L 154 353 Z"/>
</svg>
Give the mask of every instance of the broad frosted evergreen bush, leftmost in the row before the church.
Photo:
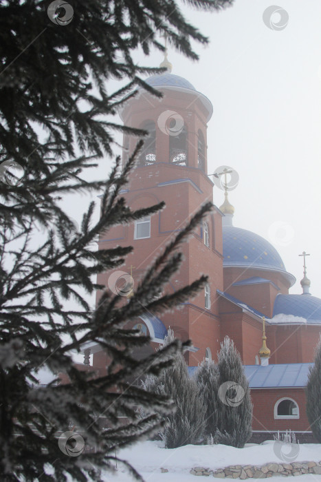
<svg viewBox="0 0 321 482">
<path fill-rule="evenodd" d="M 174 340 L 173 331 L 169 330 L 165 346 Z M 197 381 L 188 374 L 184 356 L 178 353 L 174 364 L 166 368 L 160 377 L 147 377 L 144 387 L 157 395 L 168 395 L 174 401 L 175 412 L 167 415 L 162 430 L 166 448 L 199 443 L 203 436 L 206 406 L 199 397 Z"/>
</svg>

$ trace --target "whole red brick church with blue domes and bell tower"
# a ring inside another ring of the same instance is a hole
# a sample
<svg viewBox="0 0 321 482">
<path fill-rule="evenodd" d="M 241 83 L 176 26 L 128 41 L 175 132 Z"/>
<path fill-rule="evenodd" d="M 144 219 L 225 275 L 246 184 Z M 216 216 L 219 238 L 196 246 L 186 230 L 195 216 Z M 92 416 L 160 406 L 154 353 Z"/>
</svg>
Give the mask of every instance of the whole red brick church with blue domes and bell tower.
<svg viewBox="0 0 321 482">
<path fill-rule="evenodd" d="M 151 76 L 147 83 L 164 97 L 159 100 L 140 90 L 121 112 L 125 125 L 150 133 L 122 196 L 132 209 L 162 200 L 166 208 L 129 226 L 115 227 L 99 241 L 100 249 L 133 246 L 122 270 L 132 275 L 134 293 L 155 253 L 203 202 L 213 200 L 214 178 L 208 176 L 206 149 L 212 104 L 186 78 L 171 74 L 167 59 L 162 66 L 168 67 L 167 72 Z M 124 136 L 124 162 L 136 142 Z M 186 353 L 190 371 L 203 359 L 215 359 L 228 335 L 241 354 L 250 382 L 256 439 L 291 428 L 299 441 L 308 441 L 312 436 L 305 412 L 305 385 L 320 336 L 321 300 L 309 293 L 306 270 L 303 293 L 289 295 L 296 279 L 276 249 L 261 236 L 233 225 L 234 207 L 223 177 L 219 173 L 219 182 L 226 188 L 223 205 L 215 206 L 183 245 L 184 264 L 166 289 L 175 291 L 201 273 L 209 275 L 208 285 L 175 314 L 159 318 L 146 312 L 135 327 L 151 336 L 150 350 L 162 344 L 169 326 L 176 337 L 192 339 L 193 347 Z M 214 189 L 214 204 L 222 193 Z M 102 273 L 98 282 L 113 289 L 115 277 Z M 87 344 L 84 353 L 86 364 L 92 354 L 93 367 L 104 370 L 107 359 L 100 346 Z"/>
</svg>

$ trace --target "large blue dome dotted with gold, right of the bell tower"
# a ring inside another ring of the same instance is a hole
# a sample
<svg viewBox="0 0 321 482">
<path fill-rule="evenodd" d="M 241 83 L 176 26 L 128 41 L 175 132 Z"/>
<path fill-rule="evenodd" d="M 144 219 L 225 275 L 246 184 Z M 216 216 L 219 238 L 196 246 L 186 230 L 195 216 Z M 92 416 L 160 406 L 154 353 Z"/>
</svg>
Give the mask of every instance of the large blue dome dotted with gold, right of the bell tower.
<svg viewBox="0 0 321 482">
<path fill-rule="evenodd" d="M 223 227 L 223 256 L 224 267 L 247 266 L 287 273 L 272 244 L 247 229 Z"/>
</svg>

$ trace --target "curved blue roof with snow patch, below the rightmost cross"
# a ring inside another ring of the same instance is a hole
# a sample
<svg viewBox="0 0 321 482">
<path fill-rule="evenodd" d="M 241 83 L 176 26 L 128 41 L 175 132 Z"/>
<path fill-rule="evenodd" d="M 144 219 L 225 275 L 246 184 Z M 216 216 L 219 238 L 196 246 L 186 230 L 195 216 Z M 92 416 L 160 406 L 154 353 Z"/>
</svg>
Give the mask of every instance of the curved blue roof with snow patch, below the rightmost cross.
<svg viewBox="0 0 321 482">
<path fill-rule="evenodd" d="M 321 323 L 321 300 L 311 295 L 277 295 L 274 302 L 273 316 L 300 316 L 308 323 Z"/>
</svg>

